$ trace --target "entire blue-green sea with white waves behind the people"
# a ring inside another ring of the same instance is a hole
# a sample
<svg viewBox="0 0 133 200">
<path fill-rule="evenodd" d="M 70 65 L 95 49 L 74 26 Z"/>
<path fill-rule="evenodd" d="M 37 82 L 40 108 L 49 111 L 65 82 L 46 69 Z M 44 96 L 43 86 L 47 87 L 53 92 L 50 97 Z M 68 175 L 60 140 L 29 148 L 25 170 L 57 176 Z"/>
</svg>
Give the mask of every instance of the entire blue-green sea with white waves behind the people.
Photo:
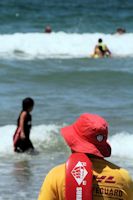
<svg viewBox="0 0 133 200">
<path fill-rule="evenodd" d="M 60 128 L 84 112 L 108 121 L 108 159 L 133 177 L 132 10 L 131 0 L 1 0 L 0 200 L 37 199 L 46 173 L 70 154 Z M 119 27 L 126 33 L 115 34 Z M 91 58 L 100 37 L 111 58 Z M 12 144 L 27 96 L 35 100 L 32 156 Z"/>
</svg>

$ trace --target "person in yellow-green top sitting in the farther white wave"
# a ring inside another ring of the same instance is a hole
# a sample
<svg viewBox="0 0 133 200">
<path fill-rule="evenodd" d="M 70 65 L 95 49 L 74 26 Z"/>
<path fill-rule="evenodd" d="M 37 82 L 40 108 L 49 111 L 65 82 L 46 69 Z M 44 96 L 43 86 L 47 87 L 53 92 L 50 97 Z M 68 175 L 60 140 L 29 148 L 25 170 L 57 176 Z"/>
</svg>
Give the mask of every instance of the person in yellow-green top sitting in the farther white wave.
<svg viewBox="0 0 133 200">
<path fill-rule="evenodd" d="M 94 58 L 102 58 L 102 57 L 110 57 L 111 51 L 108 49 L 107 45 L 103 43 L 101 38 L 98 39 L 98 44 L 95 46 L 94 54 L 92 57 Z"/>
</svg>

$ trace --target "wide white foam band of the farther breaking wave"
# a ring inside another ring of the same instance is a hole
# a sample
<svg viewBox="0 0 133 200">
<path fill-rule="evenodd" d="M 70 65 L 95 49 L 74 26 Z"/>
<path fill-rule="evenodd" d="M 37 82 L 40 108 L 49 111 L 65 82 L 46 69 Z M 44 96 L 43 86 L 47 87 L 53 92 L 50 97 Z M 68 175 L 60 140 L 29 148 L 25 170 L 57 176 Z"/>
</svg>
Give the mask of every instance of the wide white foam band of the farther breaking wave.
<svg viewBox="0 0 133 200">
<path fill-rule="evenodd" d="M 0 57 L 82 58 L 90 57 L 98 38 L 107 44 L 113 56 L 133 56 L 133 33 L 14 33 L 0 35 Z"/>
</svg>

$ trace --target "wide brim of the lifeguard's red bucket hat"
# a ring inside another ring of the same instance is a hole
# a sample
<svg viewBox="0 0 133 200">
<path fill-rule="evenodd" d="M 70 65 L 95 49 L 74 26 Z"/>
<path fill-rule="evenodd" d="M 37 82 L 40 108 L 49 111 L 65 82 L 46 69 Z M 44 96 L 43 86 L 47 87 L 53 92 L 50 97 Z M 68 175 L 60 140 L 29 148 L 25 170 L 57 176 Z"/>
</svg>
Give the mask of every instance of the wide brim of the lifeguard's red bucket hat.
<svg viewBox="0 0 133 200">
<path fill-rule="evenodd" d="M 64 137 L 68 146 L 76 152 L 88 153 L 101 158 L 111 155 L 111 147 L 108 142 L 104 146 L 100 145 L 96 147 L 94 144 L 80 138 L 74 130 L 73 125 L 62 128 L 61 135 Z"/>
</svg>

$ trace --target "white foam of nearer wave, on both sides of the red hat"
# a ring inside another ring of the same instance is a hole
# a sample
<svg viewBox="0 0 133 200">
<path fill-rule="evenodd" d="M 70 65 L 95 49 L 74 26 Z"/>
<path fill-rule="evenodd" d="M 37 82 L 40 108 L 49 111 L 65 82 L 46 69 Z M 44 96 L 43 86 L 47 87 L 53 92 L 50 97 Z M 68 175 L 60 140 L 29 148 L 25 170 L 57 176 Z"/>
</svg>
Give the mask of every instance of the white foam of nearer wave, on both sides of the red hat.
<svg viewBox="0 0 133 200">
<path fill-rule="evenodd" d="M 51 141 L 51 136 L 55 136 L 60 143 L 60 126 L 55 124 L 50 125 L 39 125 L 34 126 L 31 130 L 31 140 L 37 148 L 40 146 L 45 146 L 45 142 L 50 145 L 53 143 Z M 13 153 L 13 142 L 12 137 L 16 129 L 15 125 L 8 125 L 0 127 L 0 154 L 12 154 Z M 59 137 L 58 137 L 59 136 Z M 112 147 L 112 156 L 117 156 L 120 158 L 133 159 L 133 135 L 122 132 L 117 133 L 109 138 L 109 143 Z"/>
</svg>

